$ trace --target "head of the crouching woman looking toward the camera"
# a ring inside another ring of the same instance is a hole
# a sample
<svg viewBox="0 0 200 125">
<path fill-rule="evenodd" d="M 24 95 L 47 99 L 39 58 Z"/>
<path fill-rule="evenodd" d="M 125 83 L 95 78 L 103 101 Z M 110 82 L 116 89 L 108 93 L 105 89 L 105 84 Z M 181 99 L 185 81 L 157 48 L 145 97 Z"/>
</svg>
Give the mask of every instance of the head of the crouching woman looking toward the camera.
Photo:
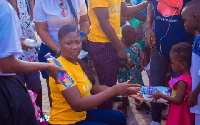
<svg viewBox="0 0 200 125">
<path fill-rule="evenodd" d="M 80 33 L 73 25 L 64 25 L 58 31 L 61 55 L 65 58 L 76 59 L 82 49 Z"/>
</svg>

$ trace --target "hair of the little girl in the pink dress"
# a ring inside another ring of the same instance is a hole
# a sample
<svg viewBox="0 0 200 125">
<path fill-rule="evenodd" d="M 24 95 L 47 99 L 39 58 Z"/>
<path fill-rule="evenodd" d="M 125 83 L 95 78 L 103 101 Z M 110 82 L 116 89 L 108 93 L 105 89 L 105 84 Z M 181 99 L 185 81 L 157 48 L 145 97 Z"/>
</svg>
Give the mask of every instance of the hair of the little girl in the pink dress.
<svg viewBox="0 0 200 125">
<path fill-rule="evenodd" d="M 170 54 L 176 54 L 177 60 L 188 63 L 191 66 L 192 45 L 186 42 L 176 44 L 170 50 Z"/>
</svg>

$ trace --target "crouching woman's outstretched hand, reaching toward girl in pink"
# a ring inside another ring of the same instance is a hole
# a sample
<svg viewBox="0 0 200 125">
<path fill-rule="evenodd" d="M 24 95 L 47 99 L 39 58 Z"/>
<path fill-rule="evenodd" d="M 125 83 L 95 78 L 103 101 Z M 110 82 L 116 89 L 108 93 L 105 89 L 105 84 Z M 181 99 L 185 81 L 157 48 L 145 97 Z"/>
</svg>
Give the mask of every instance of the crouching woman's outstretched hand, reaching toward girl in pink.
<svg viewBox="0 0 200 125">
<path fill-rule="evenodd" d="M 128 84 L 127 82 L 119 83 L 112 87 L 115 95 L 133 95 L 140 91 L 139 84 Z"/>
</svg>

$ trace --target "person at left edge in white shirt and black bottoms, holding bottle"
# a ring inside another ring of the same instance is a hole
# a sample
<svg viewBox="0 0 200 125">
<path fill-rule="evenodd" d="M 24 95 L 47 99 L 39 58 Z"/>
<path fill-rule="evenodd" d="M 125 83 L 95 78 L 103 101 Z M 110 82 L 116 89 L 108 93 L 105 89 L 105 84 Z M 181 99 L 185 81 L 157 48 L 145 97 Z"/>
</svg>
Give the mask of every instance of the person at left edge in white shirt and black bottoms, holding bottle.
<svg viewBox="0 0 200 125">
<path fill-rule="evenodd" d="M 57 72 L 65 72 L 56 65 L 24 62 L 21 29 L 17 13 L 6 1 L 0 1 L 0 125 L 36 125 L 35 111 L 25 86 L 15 73 L 46 70 L 59 83 Z"/>
</svg>

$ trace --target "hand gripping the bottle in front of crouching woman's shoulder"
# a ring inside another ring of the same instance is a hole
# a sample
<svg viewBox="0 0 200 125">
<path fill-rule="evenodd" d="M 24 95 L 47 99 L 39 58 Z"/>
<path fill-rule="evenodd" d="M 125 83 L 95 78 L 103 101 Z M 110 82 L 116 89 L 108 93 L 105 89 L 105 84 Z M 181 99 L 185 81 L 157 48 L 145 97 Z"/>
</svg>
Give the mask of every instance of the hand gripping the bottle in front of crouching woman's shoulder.
<svg viewBox="0 0 200 125">
<path fill-rule="evenodd" d="M 59 83 L 60 83 L 60 80 L 58 79 L 58 72 L 63 72 L 63 73 L 65 73 L 66 70 L 61 69 L 60 67 L 58 67 L 58 66 L 55 65 L 55 64 L 50 64 L 50 63 L 48 63 L 48 65 L 49 65 L 49 67 L 48 67 L 48 69 L 46 69 L 47 73 L 49 74 L 49 76 L 51 76 L 52 78 L 55 79 L 55 82 L 56 82 L 57 84 L 59 84 Z"/>
</svg>

